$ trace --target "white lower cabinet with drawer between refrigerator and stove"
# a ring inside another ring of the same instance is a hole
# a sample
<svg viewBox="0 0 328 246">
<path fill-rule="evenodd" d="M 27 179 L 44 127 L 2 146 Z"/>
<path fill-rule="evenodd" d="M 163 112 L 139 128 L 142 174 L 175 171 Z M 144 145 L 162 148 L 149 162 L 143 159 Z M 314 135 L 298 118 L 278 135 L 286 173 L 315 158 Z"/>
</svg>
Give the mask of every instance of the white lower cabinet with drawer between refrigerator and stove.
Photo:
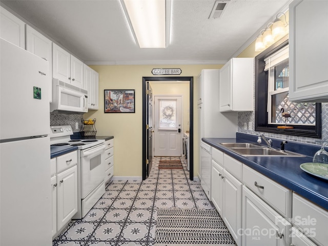
<svg viewBox="0 0 328 246">
<path fill-rule="evenodd" d="M 77 212 L 77 153 L 53 158 L 51 163 L 52 237 L 54 238 Z"/>
</svg>

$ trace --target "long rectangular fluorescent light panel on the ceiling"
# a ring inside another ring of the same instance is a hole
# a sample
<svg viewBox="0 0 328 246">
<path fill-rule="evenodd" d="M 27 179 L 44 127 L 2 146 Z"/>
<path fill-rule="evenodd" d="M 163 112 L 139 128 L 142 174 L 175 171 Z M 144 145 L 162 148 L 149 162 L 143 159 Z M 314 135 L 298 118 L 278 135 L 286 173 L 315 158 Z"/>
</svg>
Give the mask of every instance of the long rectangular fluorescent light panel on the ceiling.
<svg viewBox="0 0 328 246">
<path fill-rule="evenodd" d="M 140 48 L 166 48 L 170 40 L 171 0 L 120 0 Z"/>
</svg>

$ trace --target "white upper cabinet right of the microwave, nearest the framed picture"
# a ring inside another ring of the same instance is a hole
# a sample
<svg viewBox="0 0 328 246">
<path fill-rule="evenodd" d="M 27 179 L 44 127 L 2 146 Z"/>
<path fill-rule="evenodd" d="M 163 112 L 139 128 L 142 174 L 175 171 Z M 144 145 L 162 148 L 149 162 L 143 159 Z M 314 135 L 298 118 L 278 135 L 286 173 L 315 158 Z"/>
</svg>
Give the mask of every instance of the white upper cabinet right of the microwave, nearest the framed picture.
<svg viewBox="0 0 328 246">
<path fill-rule="evenodd" d="M 84 78 L 85 78 L 85 85 L 88 88 L 88 109 L 98 110 L 99 109 L 99 104 L 98 104 L 99 74 L 85 64 Z"/>
</svg>

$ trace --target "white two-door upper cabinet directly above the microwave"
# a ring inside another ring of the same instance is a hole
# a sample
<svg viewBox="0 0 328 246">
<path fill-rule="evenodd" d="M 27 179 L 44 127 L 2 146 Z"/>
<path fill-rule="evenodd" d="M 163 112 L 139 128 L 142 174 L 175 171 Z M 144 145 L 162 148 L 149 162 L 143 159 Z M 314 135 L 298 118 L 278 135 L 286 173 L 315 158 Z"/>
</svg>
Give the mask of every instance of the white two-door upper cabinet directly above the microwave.
<svg viewBox="0 0 328 246">
<path fill-rule="evenodd" d="M 81 89 L 86 89 L 84 84 L 84 63 L 60 48 L 52 46 L 52 76 L 65 83 Z"/>
</svg>

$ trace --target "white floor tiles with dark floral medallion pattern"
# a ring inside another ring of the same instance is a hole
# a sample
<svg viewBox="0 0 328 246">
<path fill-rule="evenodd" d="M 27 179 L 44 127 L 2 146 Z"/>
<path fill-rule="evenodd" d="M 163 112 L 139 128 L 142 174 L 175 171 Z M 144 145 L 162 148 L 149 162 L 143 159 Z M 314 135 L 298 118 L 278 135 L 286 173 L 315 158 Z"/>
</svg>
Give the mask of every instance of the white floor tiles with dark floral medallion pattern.
<svg viewBox="0 0 328 246">
<path fill-rule="evenodd" d="M 146 180 L 113 180 L 90 212 L 72 220 L 53 240 L 53 246 L 150 246 L 155 240 L 157 209 L 214 209 L 200 181 L 191 181 L 186 160 L 183 169 L 158 169 L 162 159 L 154 157 Z"/>
</svg>

